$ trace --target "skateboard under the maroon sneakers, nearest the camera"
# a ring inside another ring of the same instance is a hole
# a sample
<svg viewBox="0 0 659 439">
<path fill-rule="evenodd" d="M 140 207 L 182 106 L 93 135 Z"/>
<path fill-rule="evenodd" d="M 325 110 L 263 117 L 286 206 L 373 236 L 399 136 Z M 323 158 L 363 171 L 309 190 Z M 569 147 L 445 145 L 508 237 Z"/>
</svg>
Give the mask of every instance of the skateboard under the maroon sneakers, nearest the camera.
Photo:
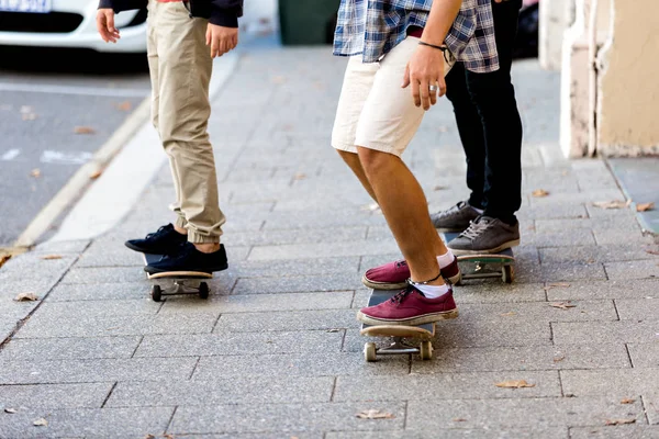
<svg viewBox="0 0 659 439">
<path fill-rule="evenodd" d="M 398 291 L 373 290 L 368 300 L 368 306 L 375 306 L 388 301 Z M 433 358 L 433 345 L 431 339 L 435 337 L 435 324 L 403 326 L 403 325 L 367 325 L 361 324 L 360 333 L 367 337 L 393 337 L 393 342 L 386 348 L 378 348 L 375 342 L 368 341 L 364 345 L 364 358 L 366 361 L 376 361 L 378 354 L 409 354 L 418 353 L 422 360 Z M 405 338 L 421 340 L 417 347 L 404 342 Z"/>
</svg>

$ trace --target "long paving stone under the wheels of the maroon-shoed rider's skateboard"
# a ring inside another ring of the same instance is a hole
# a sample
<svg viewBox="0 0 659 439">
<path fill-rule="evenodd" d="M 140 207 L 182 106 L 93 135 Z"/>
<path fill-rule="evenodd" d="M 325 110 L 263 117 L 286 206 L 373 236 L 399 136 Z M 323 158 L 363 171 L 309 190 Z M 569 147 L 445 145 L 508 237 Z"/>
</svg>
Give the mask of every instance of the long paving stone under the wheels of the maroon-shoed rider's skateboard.
<svg viewBox="0 0 659 439">
<path fill-rule="evenodd" d="M 308 350 L 291 345 L 283 349 L 291 353 L 271 353 L 264 350 L 258 356 L 243 350 L 241 356 L 202 357 L 194 379 L 213 380 L 219 376 L 336 376 L 405 375 L 410 370 L 406 356 L 393 356 L 377 364 L 366 363 L 358 352 L 336 352 L 334 346 L 319 342 Z"/>
</svg>

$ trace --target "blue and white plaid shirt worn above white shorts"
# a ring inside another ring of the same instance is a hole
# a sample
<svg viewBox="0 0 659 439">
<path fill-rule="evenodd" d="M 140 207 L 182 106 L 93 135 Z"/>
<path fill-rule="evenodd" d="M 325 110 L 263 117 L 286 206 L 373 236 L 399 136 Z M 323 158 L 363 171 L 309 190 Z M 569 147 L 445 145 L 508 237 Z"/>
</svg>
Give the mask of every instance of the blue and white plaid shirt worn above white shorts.
<svg viewBox="0 0 659 439">
<path fill-rule="evenodd" d="M 362 54 L 364 63 L 378 61 L 405 40 L 409 26 L 425 27 L 432 4 L 433 0 L 342 0 L 334 55 Z M 462 0 L 445 43 L 465 68 L 498 70 L 491 0 Z"/>
</svg>

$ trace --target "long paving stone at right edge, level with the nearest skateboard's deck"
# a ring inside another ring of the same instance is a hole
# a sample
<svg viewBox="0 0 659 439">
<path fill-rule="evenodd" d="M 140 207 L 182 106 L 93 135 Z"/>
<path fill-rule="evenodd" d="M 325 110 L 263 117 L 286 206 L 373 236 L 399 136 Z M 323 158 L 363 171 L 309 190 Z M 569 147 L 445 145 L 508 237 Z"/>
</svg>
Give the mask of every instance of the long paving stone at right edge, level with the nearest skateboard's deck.
<svg viewBox="0 0 659 439">
<path fill-rule="evenodd" d="M 573 322 L 551 324 L 556 345 L 592 342 L 657 342 L 659 320 Z"/>
</svg>

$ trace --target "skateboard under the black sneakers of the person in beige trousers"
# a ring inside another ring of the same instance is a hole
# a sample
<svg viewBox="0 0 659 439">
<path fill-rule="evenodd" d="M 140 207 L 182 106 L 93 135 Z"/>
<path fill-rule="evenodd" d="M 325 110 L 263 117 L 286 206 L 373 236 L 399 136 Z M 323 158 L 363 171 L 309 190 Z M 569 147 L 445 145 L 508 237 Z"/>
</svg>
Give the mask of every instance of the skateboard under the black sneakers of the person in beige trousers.
<svg viewBox="0 0 659 439">
<path fill-rule="evenodd" d="M 163 255 L 144 255 L 144 264 L 157 262 Z M 201 271 L 168 271 L 165 273 L 149 274 L 146 278 L 154 284 L 152 286 L 152 299 L 160 302 L 166 295 L 199 294 L 201 299 L 209 299 L 208 279 L 213 279 L 212 273 Z"/>
</svg>

